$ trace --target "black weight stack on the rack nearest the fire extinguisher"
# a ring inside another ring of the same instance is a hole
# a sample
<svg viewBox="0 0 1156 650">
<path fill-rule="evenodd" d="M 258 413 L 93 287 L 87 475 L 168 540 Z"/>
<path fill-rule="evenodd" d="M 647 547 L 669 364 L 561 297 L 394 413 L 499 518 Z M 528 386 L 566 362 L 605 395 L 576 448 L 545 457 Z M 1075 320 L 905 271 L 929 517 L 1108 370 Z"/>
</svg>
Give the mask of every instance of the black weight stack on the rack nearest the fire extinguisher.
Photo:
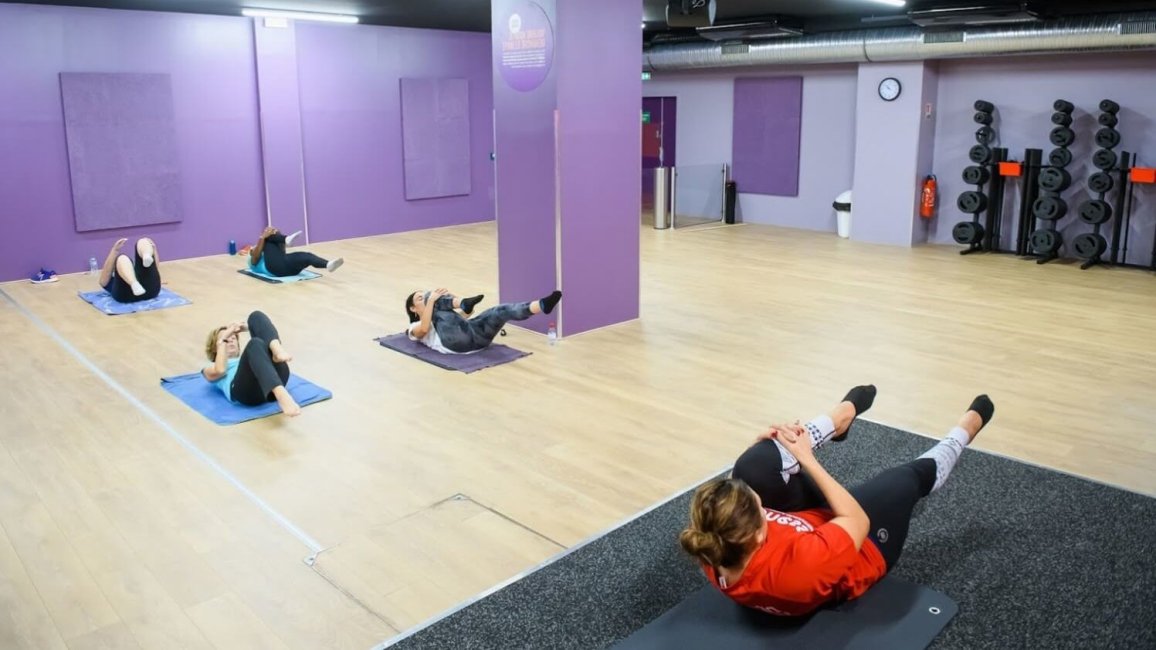
<svg viewBox="0 0 1156 650">
<path fill-rule="evenodd" d="M 1007 149 L 993 149 L 990 146 L 995 140 L 995 130 L 992 127 L 995 105 L 977 99 L 975 109 L 975 121 L 980 126 L 976 131 L 977 143 L 968 152 L 968 158 L 975 164 L 964 168 L 963 182 L 976 189 L 961 193 L 956 200 L 956 207 L 959 212 L 970 214 L 971 221 L 961 221 L 951 229 L 951 237 L 956 243 L 968 246 L 959 254 L 998 250 L 1003 212 L 1003 178 L 999 176 L 999 163 L 1007 160 Z M 985 193 L 984 187 L 988 183 L 991 189 Z M 984 223 L 979 222 L 980 213 L 985 213 Z"/>
</svg>

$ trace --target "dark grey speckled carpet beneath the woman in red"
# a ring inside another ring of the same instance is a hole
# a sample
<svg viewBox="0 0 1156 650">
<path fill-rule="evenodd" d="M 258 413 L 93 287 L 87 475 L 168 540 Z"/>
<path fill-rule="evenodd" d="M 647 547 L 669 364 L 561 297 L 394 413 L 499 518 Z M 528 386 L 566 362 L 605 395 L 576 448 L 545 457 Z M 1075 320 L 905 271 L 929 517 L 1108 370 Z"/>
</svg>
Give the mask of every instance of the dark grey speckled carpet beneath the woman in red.
<svg viewBox="0 0 1156 650">
<path fill-rule="evenodd" d="M 857 422 L 820 458 L 854 485 L 933 442 Z M 391 647 L 613 645 L 706 584 L 677 545 L 689 503 L 683 494 Z M 918 508 L 894 575 L 958 604 L 933 649 L 1156 649 L 1156 500 L 969 451 Z"/>
</svg>

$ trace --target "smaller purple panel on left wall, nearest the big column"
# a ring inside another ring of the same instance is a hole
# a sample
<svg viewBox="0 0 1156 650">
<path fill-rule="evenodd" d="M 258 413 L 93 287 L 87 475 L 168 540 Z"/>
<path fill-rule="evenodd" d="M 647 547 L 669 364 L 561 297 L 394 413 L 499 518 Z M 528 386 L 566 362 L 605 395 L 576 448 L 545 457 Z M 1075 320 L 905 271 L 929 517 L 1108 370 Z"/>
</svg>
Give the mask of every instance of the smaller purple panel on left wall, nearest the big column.
<svg viewBox="0 0 1156 650">
<path fill-rule="evenodd" d="M 469 80 L 402 79 L 406 200 L 469 194 Z"/>
</svg>

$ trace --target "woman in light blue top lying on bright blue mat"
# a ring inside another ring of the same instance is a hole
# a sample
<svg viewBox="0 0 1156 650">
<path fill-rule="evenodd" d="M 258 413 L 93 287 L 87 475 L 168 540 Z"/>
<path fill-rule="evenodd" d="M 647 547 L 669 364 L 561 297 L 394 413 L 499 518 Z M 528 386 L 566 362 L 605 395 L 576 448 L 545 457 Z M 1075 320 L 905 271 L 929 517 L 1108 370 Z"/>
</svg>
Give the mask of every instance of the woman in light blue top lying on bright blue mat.
<svg viewBox="0 0 1156 650">
<path fill-rule="evenodd" d="M 239 335 L 245 331 L 249 342 L 242 352 Z M 292 356 L 281 345 L 281 335 L 268 316 L 254 311 L 249 315 L 247 325 L 231 323 L 214 327 L 205 354 L 213 365 L 201 370 L 201 375 L 229 400 L 245 406 L 276 401 L 286 415 L 301 415 L 301 406 L 286 390 Z"/>
</svg>

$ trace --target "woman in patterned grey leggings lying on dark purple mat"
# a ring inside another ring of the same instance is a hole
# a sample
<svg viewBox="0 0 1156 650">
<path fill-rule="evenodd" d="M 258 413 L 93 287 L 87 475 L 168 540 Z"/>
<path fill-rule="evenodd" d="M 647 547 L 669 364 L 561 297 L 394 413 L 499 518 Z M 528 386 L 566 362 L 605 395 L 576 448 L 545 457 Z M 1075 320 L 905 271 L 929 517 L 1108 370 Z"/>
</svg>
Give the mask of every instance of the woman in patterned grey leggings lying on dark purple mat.
<svg viewBox="0 0 1156 650">
<path fill-rule="evenodd" d="M 420 341 L 446 354 L 468 354 L 484 349 L 510 320 L 525 320 L 535 313 L 550 313 L 562 300 L 562 291 L 554 291 L 542 300 L 491 306 L 474 318 L 474 306 L 484 296 L 459 298 L 445 289 L 414 291 L 406 296 L 406 316 L 410 340 Z"/>
</svg>

